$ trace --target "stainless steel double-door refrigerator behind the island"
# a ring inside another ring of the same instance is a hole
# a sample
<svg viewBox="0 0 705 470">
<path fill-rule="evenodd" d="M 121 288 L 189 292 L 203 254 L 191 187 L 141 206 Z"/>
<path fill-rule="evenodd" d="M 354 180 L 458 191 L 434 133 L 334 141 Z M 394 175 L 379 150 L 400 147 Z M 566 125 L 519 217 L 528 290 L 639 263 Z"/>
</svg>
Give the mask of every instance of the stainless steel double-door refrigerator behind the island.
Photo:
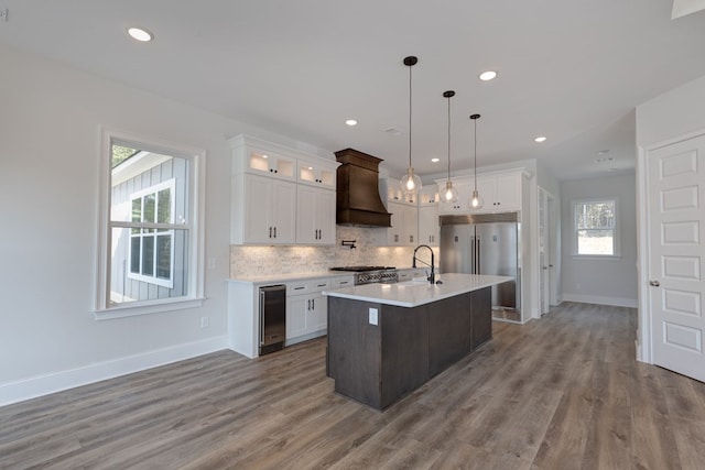
<svg viewBox="0 0 705 470">
<path fill-rule="evenodd" d="M 521 273 L 517 212 L 441 216 L 441 270 L 444 273 L 492 274 L 513 281 L 492 286 L 492 310 L 521 320 Z M 495 315 L 498 316 L 498 315 Z"/>
</svg>

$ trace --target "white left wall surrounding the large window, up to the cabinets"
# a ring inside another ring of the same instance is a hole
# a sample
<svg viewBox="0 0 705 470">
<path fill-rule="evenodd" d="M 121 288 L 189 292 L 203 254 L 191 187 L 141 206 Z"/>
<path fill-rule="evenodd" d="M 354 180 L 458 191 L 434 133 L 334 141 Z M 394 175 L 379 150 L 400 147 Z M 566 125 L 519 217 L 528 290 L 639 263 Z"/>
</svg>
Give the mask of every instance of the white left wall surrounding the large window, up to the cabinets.
<svg viewBox="0 0 705 470">
<path fill-rule="evenodd" d="M 226 139 L 257 130 L 11 50 L 0 64 L 0 405 L 225 348 Z M 203 307 L 94 319 L 101 125 L 206 150 Z"/>
</svg>

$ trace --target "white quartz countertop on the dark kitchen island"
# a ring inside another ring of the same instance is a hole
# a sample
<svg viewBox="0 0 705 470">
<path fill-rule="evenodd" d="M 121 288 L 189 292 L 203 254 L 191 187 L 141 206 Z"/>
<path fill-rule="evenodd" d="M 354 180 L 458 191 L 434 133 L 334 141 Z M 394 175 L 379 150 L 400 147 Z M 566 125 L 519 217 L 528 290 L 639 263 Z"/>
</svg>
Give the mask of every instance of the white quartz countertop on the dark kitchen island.
<svg viewBox="0 0 705 470">
<path fill-rule="evenodd" d="M 324 291 L 323 295 L 399 307 L 417 307 L 512 280 L 510 276 L 447 273 L 436 276 L 436 281 L 442 281 L 442 284 L 431 285 L 425 280 L 397 284 L 365 284 Z"/>
</svg>

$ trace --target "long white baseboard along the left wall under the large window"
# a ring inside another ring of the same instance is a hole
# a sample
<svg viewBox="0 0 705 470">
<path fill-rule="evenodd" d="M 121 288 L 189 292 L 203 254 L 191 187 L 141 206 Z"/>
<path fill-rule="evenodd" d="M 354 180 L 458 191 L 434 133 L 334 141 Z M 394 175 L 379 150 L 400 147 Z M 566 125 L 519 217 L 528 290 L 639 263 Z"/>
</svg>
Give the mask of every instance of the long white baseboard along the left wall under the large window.
<svg viewBox="0 0 705 470">
<path fill-rule="evenodd" d="M 0 406 L 228 349 L 227 336 L 0 384 Z"/>
</svg>

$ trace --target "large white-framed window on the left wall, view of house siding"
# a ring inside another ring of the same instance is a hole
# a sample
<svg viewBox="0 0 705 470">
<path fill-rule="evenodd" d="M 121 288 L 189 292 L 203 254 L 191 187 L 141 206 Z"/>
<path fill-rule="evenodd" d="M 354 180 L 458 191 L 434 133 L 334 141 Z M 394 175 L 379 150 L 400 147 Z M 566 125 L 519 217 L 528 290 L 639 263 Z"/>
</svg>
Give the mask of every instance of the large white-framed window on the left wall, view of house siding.
<svg viewBox="0 0 705 470">
<path fill-rule="evenodd" d="M 203 151 L 104 133 L 96 317 L 197 306 Z"/>
</svg>

